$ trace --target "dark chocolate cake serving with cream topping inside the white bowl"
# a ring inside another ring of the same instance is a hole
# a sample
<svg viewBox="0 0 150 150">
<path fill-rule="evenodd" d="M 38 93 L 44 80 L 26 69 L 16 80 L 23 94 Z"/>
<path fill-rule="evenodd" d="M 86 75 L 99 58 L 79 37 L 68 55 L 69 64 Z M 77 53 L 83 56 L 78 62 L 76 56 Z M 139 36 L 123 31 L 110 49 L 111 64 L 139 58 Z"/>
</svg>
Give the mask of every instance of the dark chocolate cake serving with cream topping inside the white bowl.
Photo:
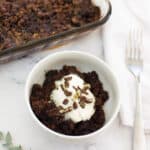
<svg viewBox="0 0 150 150">
<path fill-rule="evenodd" d="M 74 136 L 104 125 L 103 105 L 107 100 L 97 73 L 82 73 L 75 66 L 48 71 L 43 85 L 34 84 L 30 95 L 33 112 L 43 124 Z"/>
</svg>

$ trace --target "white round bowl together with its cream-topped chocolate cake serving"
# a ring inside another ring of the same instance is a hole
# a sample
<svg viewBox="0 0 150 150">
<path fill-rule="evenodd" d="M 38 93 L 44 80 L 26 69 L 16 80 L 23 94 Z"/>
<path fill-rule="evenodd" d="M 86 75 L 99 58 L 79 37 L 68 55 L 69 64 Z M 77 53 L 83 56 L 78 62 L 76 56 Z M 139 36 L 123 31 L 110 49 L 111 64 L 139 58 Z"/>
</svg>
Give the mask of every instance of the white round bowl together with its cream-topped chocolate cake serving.
<svg viewBox="0 0 150 150">
<path fill-rule="evenodd" d="M 25 88 L 31 115 L 48 132 L 88 138 L 107 129 L 119 110 L 119 88 L 99 58 L 75 51 L 49 55 L 31 71 Z"/>
</svg>

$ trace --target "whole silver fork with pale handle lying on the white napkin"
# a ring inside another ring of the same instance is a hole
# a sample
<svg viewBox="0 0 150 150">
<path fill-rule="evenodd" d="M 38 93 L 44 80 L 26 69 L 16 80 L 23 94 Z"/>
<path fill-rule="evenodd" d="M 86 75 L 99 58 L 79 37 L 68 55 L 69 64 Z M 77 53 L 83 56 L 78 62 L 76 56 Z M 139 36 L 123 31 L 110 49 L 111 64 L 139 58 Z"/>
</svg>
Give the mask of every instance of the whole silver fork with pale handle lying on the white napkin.
<svg viewBox="0 0 150 150">
<path fill-rule="evenodd" d="M 126 44 L 126 65 L 136 81 L 133 150 L 146 150 L 141 98 L 142 51 L 142 29 L 141 27 L 132 26 Z"/>
</svg>

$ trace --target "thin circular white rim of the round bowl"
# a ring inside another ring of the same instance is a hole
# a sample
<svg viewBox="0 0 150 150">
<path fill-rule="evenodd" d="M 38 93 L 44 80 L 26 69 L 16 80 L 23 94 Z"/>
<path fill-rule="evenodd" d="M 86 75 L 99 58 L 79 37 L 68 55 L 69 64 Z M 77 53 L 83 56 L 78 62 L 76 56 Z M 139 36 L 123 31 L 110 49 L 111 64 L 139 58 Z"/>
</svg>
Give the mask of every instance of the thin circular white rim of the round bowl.
<svg viewBox="0 0 150 150">
<path fill-rule="evenodd" d="M 92 133 L 89 133 L 89 134 L 86 134 L 86 135 L 79 135 L 79 136 L 73 136 L 73 135 L 65 135 L 65 134 L 62 134 L 62 133 L 58 133 L 48 127 L 46 127 L 41 121 L 39 121 L 39 119 L 36 117 L 36 115 L 34 114 L 33 110 L 32 110 L 32 107 L 31 107 L 31 104 L 30 104 L 30 100 L 29 100 L 29 95 L 28 95 L 28 90 L 29 90 L 29 84 L 30 84 L 30 81 L 31 81 L 31 77 L 33 75 L 33 73 L 35 72 L 35 70 L 42 64 L 44 63 L 45 61 L 48 61 L 50 58 L 52 57 L 57 57 L 57 56 L 65 56 L 65 55 L 68 55 L 68 54 L 76 54 L 76 55 L 82 55 L 82 56 L 87 56 L 87 57 L 91 57 L 91 59 L 95 59 L 96 61 L 98 61 L 99 63 L 101 63 L 101 65 L 103 65 L 107 71 L 109 73 L 111 73 L 111 76 L 114 80 L 114 83 L 115 83 L 115 88 L 116 88 L 116 99 L 117 99 L 117 106 L 116 106 L 116 109 L 114 110 L 113 112 L 113 115 L 112 117 L 110 118 L 110 120 L 107 122 L 107 124 L 105 124 L 102 128 L 92 132 Z M 93 55 L 93 54 L 90 54 L 88 52 L 81 52 L 81 51 L 61 51 L 61 52 L 55 52 L 53 54 L 50 54 L 48 56 L 46 56 L 45 58 L 43 58 L 42 60 L 40 60 L 33 68 L 32 70 L 30 71 L 28 77 L 27 77 L 27 80 L 26 80 L 26 84 L 25 84 L 25 101 L 27 103 L 27 106 L 28 106 L 28 110 L 31 114 L 31 116 L 34 118 L 35 122 L 37 122 L 37 124 L 42 127 L 45 131 L 47 131 L 48 133 L 51 133 L 52 135 L 55 135 L 57 137 L 60 137 L 60 138 L 63 138 L 63 139 L 69 139 L 69 140 L 80 140 L 80 139 L 87 139 L 89 137 L 93 137 L 101 132 L 103 132 L 104 130 L 106 130 L 111 124 L 112 122 L 115 120 L 115 118 L 117 117 L 117 114 L 119 112 L 119 109 L 120 109 L 120 88 L 119 88 L 119 84 L 118 84 L 118 80 L 117 80 L 117 75 L 114 73 L 114 71 L 112 71 L 112 69 L 109 67 L 108 64 L 106 64 L 103 60 L 101 60 L 100 58 L 98 58 L 97 56 Z"/>
</svg>

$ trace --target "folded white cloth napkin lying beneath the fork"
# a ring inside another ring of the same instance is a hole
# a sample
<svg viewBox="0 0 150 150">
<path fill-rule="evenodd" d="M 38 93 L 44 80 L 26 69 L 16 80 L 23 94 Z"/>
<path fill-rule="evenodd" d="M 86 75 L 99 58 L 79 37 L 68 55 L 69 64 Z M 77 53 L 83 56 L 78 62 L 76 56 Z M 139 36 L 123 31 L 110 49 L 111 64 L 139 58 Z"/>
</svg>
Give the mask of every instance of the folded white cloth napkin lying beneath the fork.
<svg viewBox="0 0 150 150">
<path fill-rule="evenodd" d="M 135 2 L 137 0 L 128 0 Z M 144 5 L 144 1 L 142 0 Z M 124 62 L 125 42 L 128 38 L 131 25 L 142 23 L 144 29 L 144 72 L 142 75 L 142 99 L 143 99 L 143 117 L 146 132 L 150 133 L 150 26 L 146 21 L 142 21 L 135 16 L 136 11 L 131 10 L 133 5 L 126 5 L 125 0 L 111 0 L 112 16 L 109 22 L 104 26 L 103 42 L 105 49 L 105 59 L 109 65 L 116 71 L 121 90 L 121 121 L 124 125 L 132 126 L 134 120 L 135 108 L 135 81 L 132 75 L 127 71 Z M 129 4 L 129 3 L 128 3 Z M 141 3 L 140 3 L 141 4 Z M 147 3 L 145 3 L 147 5 Z M 150 6 L 150 1 L 149 1 Z M 141 7 L 136 3 L 136 7 Z M 138 10 L 138 8 L 136 8 Z M 145 15 L 148 15 L 146 13 Z M 150 17 L 147 16 L 147 19 Z"/>
</svg>

